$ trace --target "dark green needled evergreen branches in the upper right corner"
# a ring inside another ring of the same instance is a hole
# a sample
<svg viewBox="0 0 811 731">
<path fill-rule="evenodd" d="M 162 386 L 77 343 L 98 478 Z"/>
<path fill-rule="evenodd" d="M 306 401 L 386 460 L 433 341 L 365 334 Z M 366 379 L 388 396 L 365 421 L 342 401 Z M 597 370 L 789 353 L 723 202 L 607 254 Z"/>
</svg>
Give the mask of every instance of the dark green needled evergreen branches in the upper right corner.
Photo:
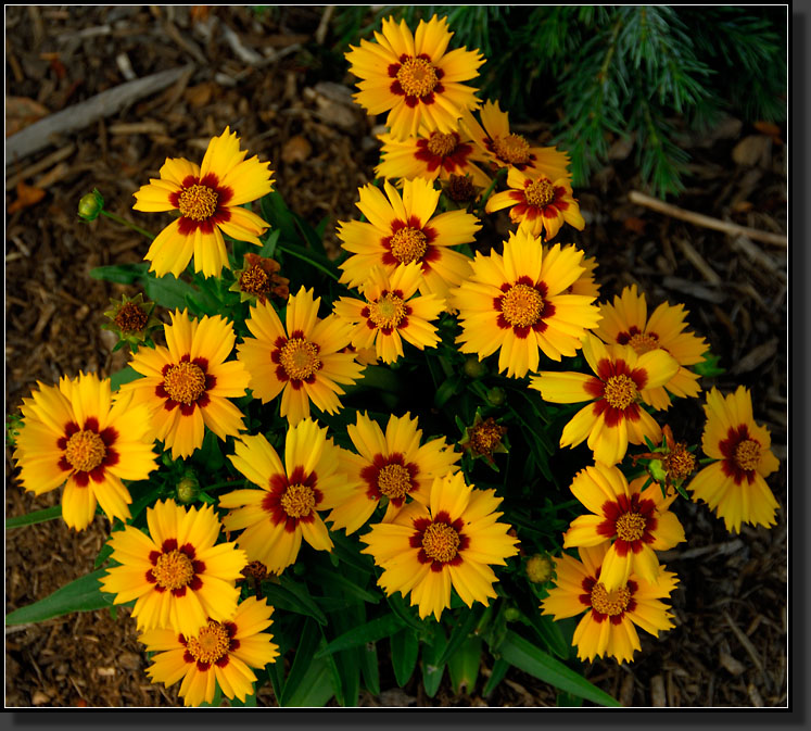
<svg viewBox="0 0 811 731">
<path fill-rule="evenodd" d="M 786 7 L 385 5 L 371 16 L 344 7 L 338 46 L 369 38 L 389 15 L 416 27 L 434 13 L 455 46 L 487 58 L 482 98 L 516 122 L 559 110 L 555 143 L 571 154 L 575 185 L 606 161 L 612 134 L 633 138 L 651 192 L 675 194 L 689 160 L 674 141 L 680 118 L 698 130 L 722 112 L 786 116 Z"/>
</svg>

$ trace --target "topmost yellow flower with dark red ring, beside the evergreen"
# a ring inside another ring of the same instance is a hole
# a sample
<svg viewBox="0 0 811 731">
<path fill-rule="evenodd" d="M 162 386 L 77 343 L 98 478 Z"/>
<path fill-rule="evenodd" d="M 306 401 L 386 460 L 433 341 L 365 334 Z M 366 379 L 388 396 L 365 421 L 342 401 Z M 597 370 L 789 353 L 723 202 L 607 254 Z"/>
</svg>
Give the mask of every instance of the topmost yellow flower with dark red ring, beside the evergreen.
<svg viewBox="0 0 811 731">
<path fill-rule="evenodd" d="M 476 89 L 461 84 L 484 63 L 479 51 L 447 51 L 454 34 L 447 20 L 420 21 L 413 34 L 405 21 L 383 21 L 375 42 L 360 40 L 345 54 L 350 72 L 362 80 L 355 101 L 369 114 L 389 112 L 387 125 L 396 139 L 416 135 L 420 126 L 452 133 L 461 110 L 476 109 Z"/>
</svg>

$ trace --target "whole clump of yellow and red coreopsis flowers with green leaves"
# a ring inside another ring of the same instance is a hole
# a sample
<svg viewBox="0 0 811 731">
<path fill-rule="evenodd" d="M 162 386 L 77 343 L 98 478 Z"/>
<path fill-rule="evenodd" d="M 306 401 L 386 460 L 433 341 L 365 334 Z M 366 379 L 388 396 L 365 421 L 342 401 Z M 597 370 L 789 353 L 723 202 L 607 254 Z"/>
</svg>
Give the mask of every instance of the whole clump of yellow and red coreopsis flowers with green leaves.
<svg viewBox="0 0 811 731">
<path fill-rule="evenodd" d="M 267 683 L 281 706 L 352 706 L 381 664 L 428 697 L 484 664 L 485 696 L 515 667 L 618 705 L 581 661 L 633 661 L 637 628 L 673 627 L 657 553 L 690 540 L 680 499 L 774 525 L 748 391 L 713 388 L 704 434 L 675 441 L 706 341 L 681 304 L 599 300 L 569 155 L 482 104 L 465 83 L 484 59 L 452 36 L 389 20 L 346 54 L 388 131 L 337 257 L 229 127 L 135 193 L 175 218 L 145 263 L 93 270 L 154 300 L 105 313 L 127 366 L 39 383 L 7 434 L 23 488 L 64 487 L 15 525 L 101 513 L 110 539 L 7 623 L 128 607 L 148 678 L 194 706 Z"/>
</svg>

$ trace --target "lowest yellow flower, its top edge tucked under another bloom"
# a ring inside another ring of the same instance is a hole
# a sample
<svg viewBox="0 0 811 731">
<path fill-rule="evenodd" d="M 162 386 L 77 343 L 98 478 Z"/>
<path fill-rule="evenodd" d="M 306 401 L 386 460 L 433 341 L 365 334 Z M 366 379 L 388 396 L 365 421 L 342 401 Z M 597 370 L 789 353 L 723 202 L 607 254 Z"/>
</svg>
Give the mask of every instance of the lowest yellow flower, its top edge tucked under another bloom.
<svg viewBox="0 0 811 731">
<path fill-rule="evenodd" d="M 279 656 L 267 628 L 273 625 L 274 607 L 266 600 L 245 598 L 227 621 L 210 619 L 193 634 L 156 628 L 141 633 L 147 652 L 155 653 L 147 675 L 153 683 L 167 688 L 182 679 L 183 705 L 199 706 L 214 700 L 216 686 L 228 698 L 244 702 L 253 693 L 256 676 Z"/>
</svg>

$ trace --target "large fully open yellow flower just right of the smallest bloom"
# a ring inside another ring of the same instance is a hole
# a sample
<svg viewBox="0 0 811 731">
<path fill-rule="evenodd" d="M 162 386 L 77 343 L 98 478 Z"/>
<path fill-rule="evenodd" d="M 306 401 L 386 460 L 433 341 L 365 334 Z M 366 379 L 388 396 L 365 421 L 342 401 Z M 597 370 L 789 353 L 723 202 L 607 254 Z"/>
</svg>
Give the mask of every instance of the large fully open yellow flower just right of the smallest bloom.
<svg viewBox="0 0 811 731">
<path fill-rule="evenodd" d="M 537 370 L 540 353 L 572 357 L 586 328 L 599 322 L 593 297 L 566 290 L 583 274 L 583 252 L 559 245 L 544 251 L 527 234 L 511 234 L 504 254 L 476 255 L 473 274 L 453 290 L 462 353 L 479 360 L 498 353 L 498 369 L 521 378 Z"/>
</svg>

